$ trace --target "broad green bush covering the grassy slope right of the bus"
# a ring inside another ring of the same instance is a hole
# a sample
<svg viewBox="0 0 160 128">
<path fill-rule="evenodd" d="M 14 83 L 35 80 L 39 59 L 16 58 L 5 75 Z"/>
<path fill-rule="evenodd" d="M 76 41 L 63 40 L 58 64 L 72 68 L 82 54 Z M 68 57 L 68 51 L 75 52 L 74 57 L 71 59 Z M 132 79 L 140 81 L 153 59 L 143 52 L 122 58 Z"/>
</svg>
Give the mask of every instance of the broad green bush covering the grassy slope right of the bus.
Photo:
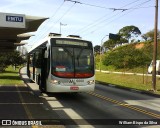
<svg viewBox="0 0 160 128">
<path fill-rule="evenodd" d="M 113 65 L 117 69 L 144 66 L 151 62 L 151 57 L 144 50 L 144 48 L 136 49 L 135 44 L 119 47 L 106 53 L 103 64 Z"/>
</svg>

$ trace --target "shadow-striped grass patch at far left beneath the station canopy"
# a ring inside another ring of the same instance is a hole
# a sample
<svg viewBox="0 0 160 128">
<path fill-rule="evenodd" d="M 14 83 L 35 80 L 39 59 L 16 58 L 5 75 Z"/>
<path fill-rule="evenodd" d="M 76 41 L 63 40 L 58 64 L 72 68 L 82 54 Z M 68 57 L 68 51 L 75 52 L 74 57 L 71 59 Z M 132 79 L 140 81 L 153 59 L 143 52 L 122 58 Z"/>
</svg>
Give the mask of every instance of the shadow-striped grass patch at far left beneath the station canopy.
<svg viewBox="0 0 160 128">
<path fill-rule="evenodd" d="M 23 84 L 19 76 L 19 68 L 16 70 L 9 66 L 4 72 L 0 73 L 0 85 L 20 85 Z"/>
</svg>

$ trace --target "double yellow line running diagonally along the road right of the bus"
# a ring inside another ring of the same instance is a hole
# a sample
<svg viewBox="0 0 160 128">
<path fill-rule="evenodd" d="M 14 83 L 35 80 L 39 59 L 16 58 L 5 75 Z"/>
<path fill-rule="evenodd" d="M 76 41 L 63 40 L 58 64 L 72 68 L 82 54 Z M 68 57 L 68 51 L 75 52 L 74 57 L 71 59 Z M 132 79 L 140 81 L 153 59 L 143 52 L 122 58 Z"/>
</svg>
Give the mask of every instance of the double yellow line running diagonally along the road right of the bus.
<svg viewBox="0 0 160 128">
<path fill-rule="evenodd" d="M 160 119 L 160 114 L 156 114 L 156 113 L 153 113 L 153 112 L 149 112 L 147 110 L 143 110 L 143 109 L 140 109 L 138 107 L 135 107 L 133 105 L 130 105 L 130 104 L 126 104 L 126 103 L 123 103 L 123 102 L 119 102 L 117 100 L 114 100 L 114 99 L 111 99 L 111 98 L 108 98 L 106 96 L 103 96 L 103 95 L 100 95 L 100 94 L 97 94 L 97 93 L 94 93 L 94 92 L 87 92 L 88 94 L 92 95 L 92 96 L 95 96 L 97 98 L 100 98 L 100 99 L 103 99 L 105 101 L 109 101 L 109 102 L 112 102 L 114 104 L 117 104 L 117 105 L 120 105 L 120 106 L 123 106 L 123 107 L 126 107 L 126 108 L 129 108 L 129 109 L 132 109 L 132 110 L 135 110 L 137 112 L 141 112 L 141 113 L 144 113 L 146 115 L 149 115 L 149 116 L 152 116 L 152 117 L 155 117 L 155 118 L 159 118 Z"/>
</svg>

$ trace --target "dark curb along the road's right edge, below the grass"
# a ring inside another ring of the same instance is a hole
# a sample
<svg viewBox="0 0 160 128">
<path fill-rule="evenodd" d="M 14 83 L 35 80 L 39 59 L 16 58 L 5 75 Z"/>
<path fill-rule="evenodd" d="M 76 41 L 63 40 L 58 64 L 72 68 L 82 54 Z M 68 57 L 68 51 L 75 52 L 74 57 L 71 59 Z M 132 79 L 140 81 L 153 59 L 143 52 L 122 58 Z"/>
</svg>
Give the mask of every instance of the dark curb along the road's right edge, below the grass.
<svg viewBox="0 0 160 128">
<path fill-rule="evenodd" d="M 122 87 L 120 85 L 115 85 L 115 84 L 111 84 L 111 83 L 105 83 L 105 82 L 101 82 L 101 81 L 97 81 L 97 80 L 96 80 L 96 83 L 97 84 L 102 84 L 104 86 L 109 86 L 109 87 L 112 87 L 112 88 L 123 89 L 123 90 L 131 91 L 131 92 L 136 92 L 136 93 L 145 94 L 145 95 L 149 95 L 149 96 L 154 96 L 154 97 L 160 98 L 159 94 L 154 94 L 154 93 L 151 93 L 151 92 L 148 92 L 148 91 L 142 91 L 142 90 L 138 90 L 138 89 L 134 89 L 134 88 L 128 88 L 128 87 Z"/>
</svg>

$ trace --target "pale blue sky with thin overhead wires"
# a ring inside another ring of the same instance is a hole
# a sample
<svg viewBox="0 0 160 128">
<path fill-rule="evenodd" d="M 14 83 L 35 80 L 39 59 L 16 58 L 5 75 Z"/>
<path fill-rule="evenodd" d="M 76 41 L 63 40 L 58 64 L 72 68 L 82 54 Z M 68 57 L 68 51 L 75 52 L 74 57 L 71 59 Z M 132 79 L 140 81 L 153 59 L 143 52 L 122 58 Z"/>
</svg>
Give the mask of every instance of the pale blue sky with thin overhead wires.
<svg viewBox="0 0 160 128">
<path fill-rule="evenodd" d="M 125 26 L 142 34 L 152 30 L 155 0 L 1 0 L 0 12 L 49 18 L 25 41 L 28 48 L 50 32 L 60 33 L 60 23 L 62 35 L 80 35 L 95 46 Z"/>
</svg>

